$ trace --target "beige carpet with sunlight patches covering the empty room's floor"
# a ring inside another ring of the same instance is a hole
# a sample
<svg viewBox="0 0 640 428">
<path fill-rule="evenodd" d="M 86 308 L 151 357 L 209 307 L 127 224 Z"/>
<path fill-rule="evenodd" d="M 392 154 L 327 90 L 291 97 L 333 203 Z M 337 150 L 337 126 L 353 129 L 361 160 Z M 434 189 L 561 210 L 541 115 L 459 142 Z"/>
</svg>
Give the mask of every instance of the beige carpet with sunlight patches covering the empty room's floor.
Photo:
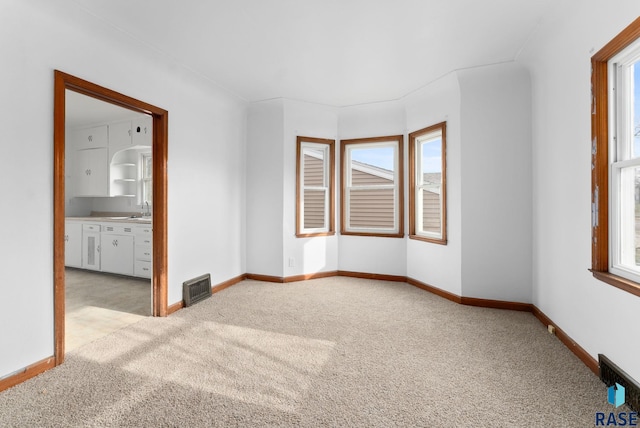
<svg viewBox="0 0 640 428">
<path fill-rule="evenodd" d="M 611 410 L 529 313 L 344 277 L 244 281 L 0 393 L 2 427 L 587 427 Z"/>
</svg>

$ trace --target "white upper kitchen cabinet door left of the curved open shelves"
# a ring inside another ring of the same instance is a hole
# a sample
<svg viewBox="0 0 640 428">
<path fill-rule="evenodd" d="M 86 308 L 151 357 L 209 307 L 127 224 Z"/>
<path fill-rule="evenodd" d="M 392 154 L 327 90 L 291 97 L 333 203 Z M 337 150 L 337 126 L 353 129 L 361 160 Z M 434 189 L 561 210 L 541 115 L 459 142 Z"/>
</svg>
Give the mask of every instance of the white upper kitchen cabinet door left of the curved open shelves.
<svg viewBox="0 0 640 428">
<path fill-rule="evenodd" d="M 107 149 L 76 150 L 75 196 L 109 196 Z"/>
</svg>

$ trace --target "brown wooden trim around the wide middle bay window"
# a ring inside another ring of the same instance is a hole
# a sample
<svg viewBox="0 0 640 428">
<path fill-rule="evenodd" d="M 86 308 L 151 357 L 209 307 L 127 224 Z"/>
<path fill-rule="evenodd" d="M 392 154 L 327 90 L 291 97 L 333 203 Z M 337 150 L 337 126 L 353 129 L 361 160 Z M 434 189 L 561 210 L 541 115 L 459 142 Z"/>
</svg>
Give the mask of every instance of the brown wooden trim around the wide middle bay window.
<svg viewBox="0 0 640 428">
<path fill-rule="evenodd" d="M 348 145 L 383 143 L 395 141 L 398 143 L 398 231 L 391 233 L 354 232 L 346 230 L 346 173 L 345 152 Z M 340 144 L 340 234 L 351 236 L 376 236 L 382 238 L 404 238 L 404 136 L 390 135 L 387 137 L 355 138 L 342 140 Z"/>
</svg>

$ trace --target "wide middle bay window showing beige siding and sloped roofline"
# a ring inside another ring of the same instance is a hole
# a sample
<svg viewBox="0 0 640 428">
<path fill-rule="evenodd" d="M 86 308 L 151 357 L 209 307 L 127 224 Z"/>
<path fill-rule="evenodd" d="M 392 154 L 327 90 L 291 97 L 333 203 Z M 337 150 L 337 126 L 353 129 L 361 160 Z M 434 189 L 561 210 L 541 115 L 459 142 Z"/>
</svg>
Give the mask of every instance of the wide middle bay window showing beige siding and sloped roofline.
<svg viewBox="0 0 640 428">
<path fill-rule="evenodd" d="M 402 146 L 402 135 L 342 141 L 342 234 L 403 236 Z"/>
</svg>

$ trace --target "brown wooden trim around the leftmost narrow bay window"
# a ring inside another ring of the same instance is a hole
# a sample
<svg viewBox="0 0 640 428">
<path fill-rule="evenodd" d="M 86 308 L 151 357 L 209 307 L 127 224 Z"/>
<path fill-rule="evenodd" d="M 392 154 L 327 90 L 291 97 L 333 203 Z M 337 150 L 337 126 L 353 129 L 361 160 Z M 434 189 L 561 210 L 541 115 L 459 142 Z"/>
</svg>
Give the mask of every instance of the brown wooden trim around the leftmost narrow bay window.
<svg viewBox="0 0 640 428">
<path fill-rule="evenodd" d="M 302 198 L 302 183 L 300 182 L 300 155 L 302 154 L 302 143 L 326 144 L 329 146 L 329 230 L 326 232 L 303 233 L 300 204 Z M 336 140 L 326 138 L 301 137 L 296 138 L 296 236 L 298 238 L 308 238 L 312 236 L 332 236 L 336 234 Z"/>
</svg>

